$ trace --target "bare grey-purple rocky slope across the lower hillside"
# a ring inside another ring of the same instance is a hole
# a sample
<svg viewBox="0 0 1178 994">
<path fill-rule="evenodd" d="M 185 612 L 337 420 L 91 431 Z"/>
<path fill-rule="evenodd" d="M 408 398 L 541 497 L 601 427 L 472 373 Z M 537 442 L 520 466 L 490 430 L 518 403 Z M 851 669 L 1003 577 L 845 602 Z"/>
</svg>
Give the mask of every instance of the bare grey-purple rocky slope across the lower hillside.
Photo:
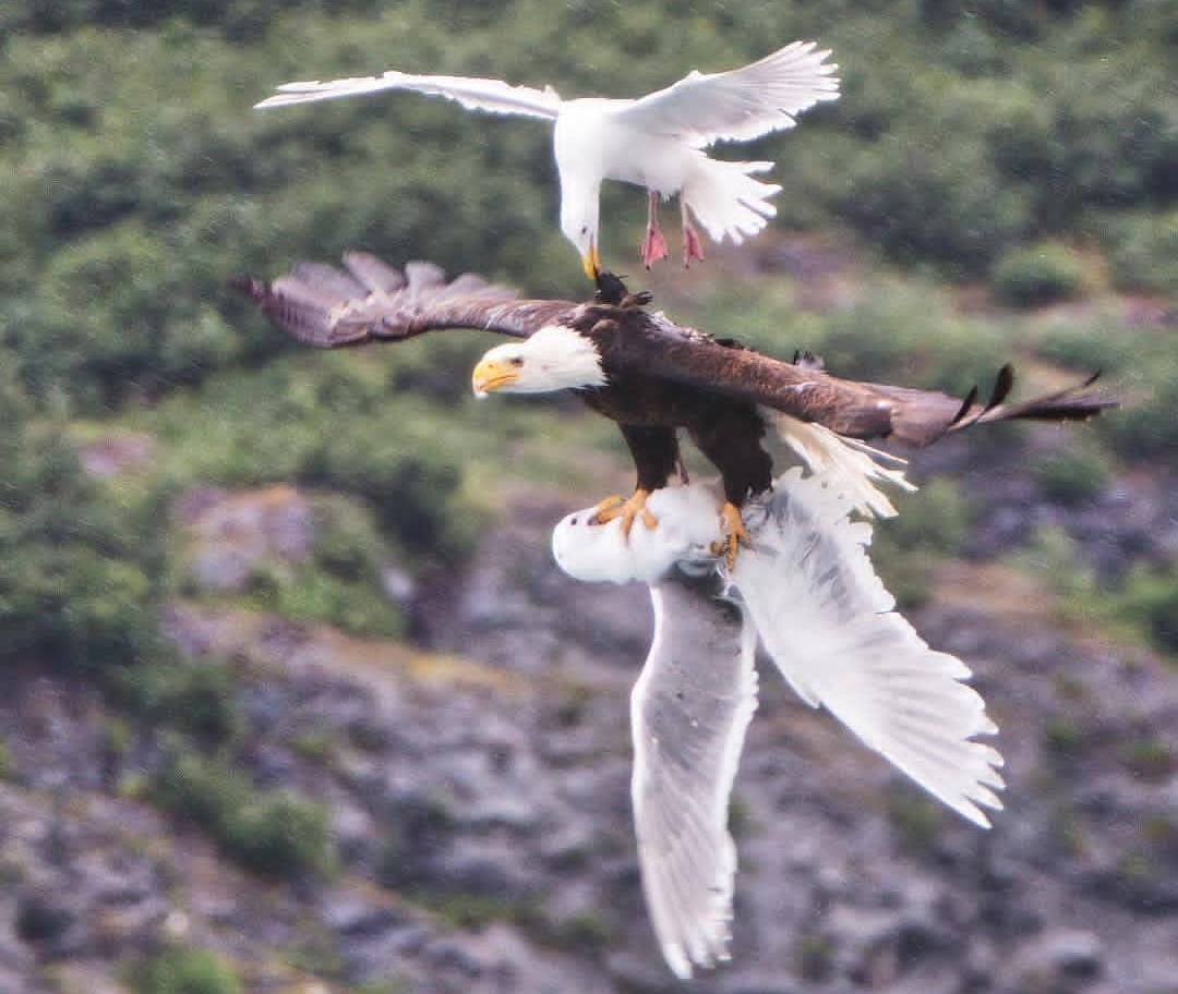
<svg viewBox="0 0 1178 994">
<path fill-rule="evenodd" d="M 951 446 L 935 468 L 968 457 Z M 1010 787 L 992 831 L 940 811 L 763 668 L 733 804 L 733 962 L 675 982 L 628 808 L 646 592 L 563 577 L 548 529 L 570 499 L 517 493 L 465 575 L 398 588 L 412 647 L 172 607 L 190 665 L 232 661 L 236 761 L 258 788 L 330 806 L 324 875 L 272 883 L 234 867 L 143 800 L 160 764 L 150 729 L 112 749 L 94 689 L 8 674 L 0 990 L 121 990 L 168 941 L 217 950 L 246 989 L 304 994 L 1178 990 L 1178 681 L 1091 627 L 1058 629 L 1032 601 L 1043 591 L 993 562 L 1035 516 L 1107 568 L 1143 536 L 1172 542 L 1173 481 L 1121 482 L 1078 511 L 1028 508 L 1018 476 L 967 483 L 988 508 L 973 558 L 913 619 L 973 667 L 1001 727 Z M 299 499 L 197 503 L 234 534 L 234 556 L 298 555 Z M 209 583 L 225 576 L 196 563 Z"/>
</svg>

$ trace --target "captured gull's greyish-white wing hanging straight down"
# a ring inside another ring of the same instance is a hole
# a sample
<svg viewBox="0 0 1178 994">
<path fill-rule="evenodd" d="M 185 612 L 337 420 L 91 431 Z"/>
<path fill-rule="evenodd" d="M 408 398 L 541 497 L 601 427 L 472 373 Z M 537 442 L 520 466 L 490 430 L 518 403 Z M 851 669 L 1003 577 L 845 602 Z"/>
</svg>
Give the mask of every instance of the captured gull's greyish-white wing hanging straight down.
<svg viewBox="0 0 1178 994">
<path fill-rule="evenodd" d="M 756 709 L 755 634 L 716 581 L 650 588 L 655 637 L 630 696 L 642 888 L 680 978 L 728 959 L 736 847 L 728 795 Z"/>
</svg>

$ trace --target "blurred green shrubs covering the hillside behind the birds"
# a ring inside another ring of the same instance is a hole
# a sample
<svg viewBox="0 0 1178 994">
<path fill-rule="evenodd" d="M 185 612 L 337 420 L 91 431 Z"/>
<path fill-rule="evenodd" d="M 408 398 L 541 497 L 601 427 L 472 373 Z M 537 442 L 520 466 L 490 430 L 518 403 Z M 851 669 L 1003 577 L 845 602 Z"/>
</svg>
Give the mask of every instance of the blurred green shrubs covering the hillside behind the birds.
<svg viewBox="0 0 1178 994">
<path fill-rule="evenodd" d="M 842 98 L 721 154 L 776 160 L 776 225 L 860 246 L 862 292 L 818 313 L 796 306 L 790 280 L 712 285 L 701 270 L 694 310 L 676 317 L 779 356 L 814 350 L 840 375 L 962 395 L 1012 352 L 1077 376 L 1101 369 L 1133 404 L 1032 468 L 1060 504 L 1096 499 L 1126 462 L 1172 463 L 1172 330 L 1126 327 L 1111 305 L 1047 323 L 964 314 L 954 293 L 981 283 L 1014 307 L 1110 291 L 1173 305 L 1173 4 L 568 0 L 537 16 L 525 0 L 13 0 L 0 8 L 0 658 L 97 676 L 131 716 L 107 747 L 131 749 L 130 723 L 163 734 L 147 795 L 244 866 L 329 868 L 325 811 L 259 793 L 233 768 L 249 734 L 233 671 L 184 664 L 161 641 L 167 598 L 217 599 L 186 576 L 177 497 L 300 485 L 316 516 L 310 559 L 264 563 L 238 601 L 398 637 L 386 566 L 416 578 L 461 564 L 504 483 L 589 501 L 629 469 L 613 425 L 575 403 L 476 406 L 466 384 L 485 336 L 310 353 L 225 286 L 357 246 L 581 296 L 547 128 L 412 94 L 251 105 L 286 80 L 385 67 L 634 95 L 795 38 L 834 49 Z M 633 258 L 641 207 L 640 191 L 604 191 L 607 261 Z M 157 445 L 146 466 L 99 479 L 80 453 L 115 429 Z M 874 555 L 913 605 L 960 551 L 972 511 L 944 481 L 898 503 Z M 1178 652 L 1178 564 L 1138 565 L 1103 589 L 1059 569 L 1076 565 L 1060 535 L 1037 536 L 1024 559 L 1072 578 L 1071 609 Z M 902 807 L 898 830 L 918 840 L 924 816 Z M 234 985 L 177 948 L 137 989 Z"/>
</svg>

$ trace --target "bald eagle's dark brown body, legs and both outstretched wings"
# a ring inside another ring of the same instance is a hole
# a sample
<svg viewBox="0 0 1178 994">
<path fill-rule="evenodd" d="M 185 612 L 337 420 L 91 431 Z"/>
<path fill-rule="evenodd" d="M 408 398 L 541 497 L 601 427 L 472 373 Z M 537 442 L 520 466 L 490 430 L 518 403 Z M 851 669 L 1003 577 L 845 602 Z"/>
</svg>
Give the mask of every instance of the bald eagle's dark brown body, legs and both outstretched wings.
<svg viewBox="0 0 1178 994">
<path fill-rule="evenodd" d="M 608 378 L 605 387 L 582 396 L 622 425 L 640 485 L 656 477 L 661 482 L 654 485 L 666 483 L 677 456 L 675 430 L 683 428 L 721 470 L 726 489 L 741 491 L 740 499 L 749 492 L 746 485 L 755 492 L 770 472 L 760 446 L 759 406 L 852 438 L 928 445 L 974 424 L 1079 420 L 1118 405 L 1092 389 L 1094 377 L 1007 404 L 1014 376 L 1010 366 L 999 372 L 986 404 L 977 402 L 977 390 L 962 403 L 934 391 L 839 379 L 808 357 L 786 363 L 651 314 L 642 309 L 649 297 L 627 294 L 616 278 L 600 285 L 594 301 L 573 304 L 519 300 L 514 290 L 472 274 L 446 283 L 430 263 L 409 263 L 401 273 L 372 256 L 349 252 L 344 266 L 346 272 L 299 263 L 273 283 L 241 277 L 233 285 L 284 331 L 319 347 L 401 340 L 446 327 L 516 338 L 545 325 L 571 327 L 593 339 Z"/>
</svg>

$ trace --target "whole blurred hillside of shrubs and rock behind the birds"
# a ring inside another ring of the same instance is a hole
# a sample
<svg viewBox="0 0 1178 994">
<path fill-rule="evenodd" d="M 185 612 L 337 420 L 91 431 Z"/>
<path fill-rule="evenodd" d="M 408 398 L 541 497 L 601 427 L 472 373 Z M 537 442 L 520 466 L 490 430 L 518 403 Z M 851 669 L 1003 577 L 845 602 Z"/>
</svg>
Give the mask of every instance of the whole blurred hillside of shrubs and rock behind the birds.
<svg viewBox="0 0 1178 994">
<path fill-rule="evenodd" d="M 623 97 L 796 38 L 842 98 L 722 153 L 777 161 L 770 231 L 643 273 L 611 187 L 607 263 L 840 375 L 1131 403 L 915 453 L 876 531 L 1001 725 L 994 830 L 763 672 L 734 962 L 684 988 L 628 821 L 644 596 L 547 554 L 630 485 L 616 430 L 476 406 L 485 337 L 311 353 L 226 280 L 587 291 L 543 127 L 252 112 L 278 82 Z M 9 0 L 0 48 L 0 992 L 1178 992 L 1178 6 Z"/>
</svg>

